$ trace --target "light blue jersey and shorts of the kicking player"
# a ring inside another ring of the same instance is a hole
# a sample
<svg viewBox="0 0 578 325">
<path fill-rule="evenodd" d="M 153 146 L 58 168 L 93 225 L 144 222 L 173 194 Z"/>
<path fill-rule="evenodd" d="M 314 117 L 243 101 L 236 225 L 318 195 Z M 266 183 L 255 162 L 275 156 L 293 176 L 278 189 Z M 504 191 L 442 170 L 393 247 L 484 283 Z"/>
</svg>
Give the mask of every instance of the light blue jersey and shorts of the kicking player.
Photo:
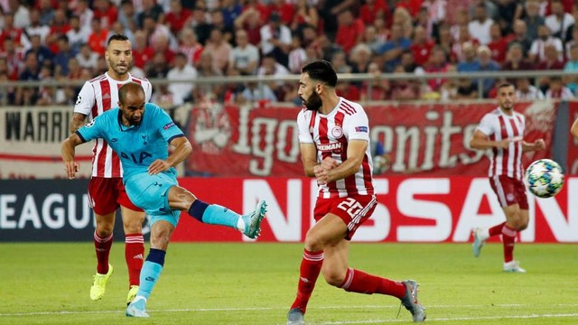
<svg viewBox="0 0 578 325">
<path fill-rule="evenodd" d="M 121 116 L 118 107 L 110 109 L 79 128 L 77 135 L 83 142 L 97 138 L 106 140 L 120 157 L 123 182 L 130 200 L 149 216 L 156 216 L 153 223 L 165 219 L 176 226 L 180 211 L 170 209 L 167 196 L 168 190 L 178 184 L 176 170 L 171 168 L 149 175 L 148 166 L 157 159 L 166 160 L 169 143 L 184 135 L 171 116 L 152 103 L 144 104 L 140 125 L 123 125 Z"/>
</svg>

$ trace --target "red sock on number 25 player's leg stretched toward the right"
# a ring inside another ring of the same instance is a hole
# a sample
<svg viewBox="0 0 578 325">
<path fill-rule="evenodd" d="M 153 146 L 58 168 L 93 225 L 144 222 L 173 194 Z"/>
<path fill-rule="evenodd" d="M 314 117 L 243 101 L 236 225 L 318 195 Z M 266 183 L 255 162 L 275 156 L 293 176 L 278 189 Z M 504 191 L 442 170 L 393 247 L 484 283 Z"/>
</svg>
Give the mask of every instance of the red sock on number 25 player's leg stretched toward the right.
<svg viewBox="0 0 578 325">
<path fill-rule="evenodd" d="M 341 283 L 340 288 L 346 292 L 387 294 L 399 299 L 403 299 L 406 296 L 406 285 L 404 283 L 391 281 L 352 268 L 347 270 L 345 280 Z"/>
</svg>

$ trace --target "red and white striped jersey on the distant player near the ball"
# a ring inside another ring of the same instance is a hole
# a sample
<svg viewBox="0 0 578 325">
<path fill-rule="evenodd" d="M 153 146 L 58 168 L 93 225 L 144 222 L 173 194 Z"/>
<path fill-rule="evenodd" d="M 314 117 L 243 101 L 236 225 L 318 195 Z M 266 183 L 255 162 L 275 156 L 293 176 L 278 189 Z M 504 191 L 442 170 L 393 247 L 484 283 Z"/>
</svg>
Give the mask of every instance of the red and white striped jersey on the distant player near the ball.
<svg viewBox="0 0 578 325">
<path fill-rule="evenodd" d="M 486 114 L 478 125 L 478 130 L 489 135 L 491 141 L 512 139 L 508 149 L 493 148 L 489 153 L 489 177 L 506 175 L 513 179 L 522 180 L 522 139 L 526 117 L 513 112 L 511 116 L 504 114 L 498 107 Z"/>
</svg>

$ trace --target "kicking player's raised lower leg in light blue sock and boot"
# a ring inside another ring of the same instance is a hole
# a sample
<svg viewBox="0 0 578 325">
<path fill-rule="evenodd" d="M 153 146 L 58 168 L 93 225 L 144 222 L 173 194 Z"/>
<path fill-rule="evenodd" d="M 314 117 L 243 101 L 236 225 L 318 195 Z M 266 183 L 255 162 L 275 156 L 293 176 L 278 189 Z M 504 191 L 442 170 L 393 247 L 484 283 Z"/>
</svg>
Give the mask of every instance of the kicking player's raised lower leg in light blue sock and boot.
<svg viewBox="0 0 578 325">
<path fill-rule="evenodd" d="M 255 239 L 261 231 L 261 221 L 265 218 L 266 207 L 266 201 L 260 200 L 256 204 L 255 211 L 241 216 L 237 212 L 218 204 L 194 200 L 189 208 L 189 215 L 202 223 L 238 229 L 247 237 Z"/>
</svg>

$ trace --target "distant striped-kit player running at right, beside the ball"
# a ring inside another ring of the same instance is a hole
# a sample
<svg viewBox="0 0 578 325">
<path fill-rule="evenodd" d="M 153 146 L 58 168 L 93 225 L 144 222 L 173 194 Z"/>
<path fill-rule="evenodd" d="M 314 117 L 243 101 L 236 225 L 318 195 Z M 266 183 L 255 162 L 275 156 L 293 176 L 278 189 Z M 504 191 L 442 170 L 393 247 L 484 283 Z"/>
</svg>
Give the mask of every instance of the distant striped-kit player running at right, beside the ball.
<svg viewBox="0 0 578 325">
<path fill-rule="evenodd" d="M 489 183 L 498 196 L 506 221 L 491 228 L 473 230 L 473 255 L 478 257 L 486 240 L 502 235 L 505 272 L 526 273 L 514 260 L 514 243 L 518 231 L 527 228 L 528 206 L 522 153 L 544 150 L 543 139 L 533 144 L 524 141 L 526 118 L 516 112 L 516 89 L 504 83 L 498 87 L 499 107 L 486 114 L 471 137 L 470 146 L 489 151 Z"/>
</svg>

